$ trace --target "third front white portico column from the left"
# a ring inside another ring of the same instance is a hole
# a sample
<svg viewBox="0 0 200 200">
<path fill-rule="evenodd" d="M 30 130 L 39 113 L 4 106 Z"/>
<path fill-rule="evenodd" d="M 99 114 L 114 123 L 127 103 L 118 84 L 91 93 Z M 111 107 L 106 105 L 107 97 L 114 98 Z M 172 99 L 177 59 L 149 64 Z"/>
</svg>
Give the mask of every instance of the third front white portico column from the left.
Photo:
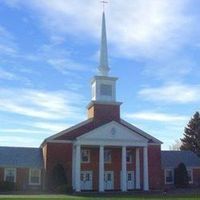
<svg viewBox="0 0 200 200">
<path fill-rule="evenodd" d="M 122 188 L 123 192 L 127 191 L 127 172 L 126 172 L 126 146 L 122 147 Z"/>
</svg>

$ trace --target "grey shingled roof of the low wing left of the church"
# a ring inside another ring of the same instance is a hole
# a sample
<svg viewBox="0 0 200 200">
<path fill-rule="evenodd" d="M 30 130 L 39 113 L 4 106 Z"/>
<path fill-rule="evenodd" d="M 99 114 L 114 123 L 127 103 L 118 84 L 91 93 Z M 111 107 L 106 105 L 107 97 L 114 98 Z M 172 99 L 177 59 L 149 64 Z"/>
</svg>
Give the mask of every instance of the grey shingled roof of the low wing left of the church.
<svg viewBox="0 0 200 200">
<path fill-rule="evenodd" d="M 0 147 L 0 167 L 43 168 L 41 148 Z"/>
</svg>

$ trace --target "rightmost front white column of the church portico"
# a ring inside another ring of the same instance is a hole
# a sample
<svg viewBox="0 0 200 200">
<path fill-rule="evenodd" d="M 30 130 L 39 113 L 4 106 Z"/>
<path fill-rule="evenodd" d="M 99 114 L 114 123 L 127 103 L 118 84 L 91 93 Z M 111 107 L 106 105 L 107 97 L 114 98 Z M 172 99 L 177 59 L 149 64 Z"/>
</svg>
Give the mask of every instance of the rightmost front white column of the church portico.
<svg viewBox="0 0 200 200">
<path fill-rule="evenodd" d="M 144 191 L 149 190 L 149 174 L 148 174 L 148 149 L 143 148 L 143 159 L 144 159 Z"/>
</svg>

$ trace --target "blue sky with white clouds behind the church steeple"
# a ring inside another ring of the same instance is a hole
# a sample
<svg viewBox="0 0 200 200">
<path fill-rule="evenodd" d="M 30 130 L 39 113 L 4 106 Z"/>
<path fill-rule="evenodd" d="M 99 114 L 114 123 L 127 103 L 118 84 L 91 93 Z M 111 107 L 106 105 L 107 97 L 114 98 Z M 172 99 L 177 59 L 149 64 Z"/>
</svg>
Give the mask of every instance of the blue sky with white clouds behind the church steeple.
<svg viewBox="0 0 200 200">
<path fill-rule="evenodd" d="M 0 0 L 0 145 L 39 146 L 85 120 L 98 67 L 98 0 Z M 122 118 L 168 149 L 200 105 L 200 1 L 112 0 Z"/>
</svg>

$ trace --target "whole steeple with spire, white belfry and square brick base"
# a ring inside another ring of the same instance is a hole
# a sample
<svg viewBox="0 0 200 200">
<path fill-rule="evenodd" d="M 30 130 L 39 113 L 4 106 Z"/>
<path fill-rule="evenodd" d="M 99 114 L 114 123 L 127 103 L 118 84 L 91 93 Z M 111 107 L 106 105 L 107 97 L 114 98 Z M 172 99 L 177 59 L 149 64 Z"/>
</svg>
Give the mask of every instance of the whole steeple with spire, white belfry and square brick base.
<svg viewBox="0 0 200 200">
<path fill-rule="evenodd" d="M 105 13 L 102 14 L 101 47 L 99 75 L 94 76 L 91 82 L 92 101 L 88 105 L 88 117 L 98 123 L 120 120 L 120 102 L 116 101 L 116 81 L 118 78 L 108 75 L 108 49 L 106 37 Z"/>
</svg>

